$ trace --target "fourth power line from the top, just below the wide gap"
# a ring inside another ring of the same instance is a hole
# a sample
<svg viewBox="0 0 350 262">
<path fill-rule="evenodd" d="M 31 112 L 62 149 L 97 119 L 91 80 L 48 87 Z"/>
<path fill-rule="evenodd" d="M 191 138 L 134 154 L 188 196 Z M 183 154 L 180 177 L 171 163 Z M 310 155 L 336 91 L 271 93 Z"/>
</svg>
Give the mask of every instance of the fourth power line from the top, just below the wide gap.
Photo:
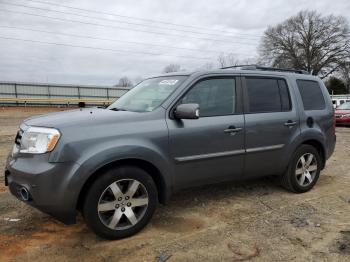
<svg viewBox="0 0 350 262">
<path fill-rule="evenodd" d="M 103 41 L 111 41 L 111 42 L 117 42 L 117 43 L 121 42 L 121 43 L 127 43 L 127 44 L 158 46 L 158 47 L 165 47 L 165 48 L 173 48 L 173 49 L 182 49 L 182 50 L 203 52 L 203 53 L 208 53 L 208 52 L 209 52 L 209 53 L 216 53 L 216 54 L 222 53 L 222 52 L 220 52 L 220 51 L 215 51 L 215 50 L 205 50 L 205 49 L 195 49 L 195 48 L 187 48 L 187 47 L 177 47 L 177 46 L 159 45 L 159 44 L 152 44 L 152 43 L 142 43 L 142 42 L 134 42 L 134 41 L 125 41 L 125 40 L 119 40 L 119 39 L 101 38 L 101 37 L 94 37 L 94 36 L 85 36 L 85 35 L 77 35 L 77 34 L 68 34 L 68 33 L 52 32 L 52 31 L 39 30 L 39 29 L 32 29 L 32 28 L 16 27 L 16 26 L 3 26 L 3 25 L 0 25 L 0 28 L 25 30 L 25 31 L 31 31 L 31 32 L 39 32 L 39 33 L 54 34 L 54 35 L 63 35 L 63 36 L 70 36 L 70 37 L 77 37 L 77 38 L 88 38 L 88 39 L 103 40 Z"/>
</svg>

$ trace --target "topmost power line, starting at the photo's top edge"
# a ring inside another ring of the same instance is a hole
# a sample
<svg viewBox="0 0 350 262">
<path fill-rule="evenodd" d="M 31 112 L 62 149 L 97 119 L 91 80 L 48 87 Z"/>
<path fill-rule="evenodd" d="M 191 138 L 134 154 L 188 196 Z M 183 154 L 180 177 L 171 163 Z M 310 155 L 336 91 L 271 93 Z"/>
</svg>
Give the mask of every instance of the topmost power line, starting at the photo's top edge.
<svg viewBox="0 0 350 262">
<path fill-rule="evenodd" d="M 177 24 L 177 23 L 171 23 L 171 22 L 160 21 L 160 20 L 153 20 L 153 19 L 140 18 L 140 17 L 132 17 L 132 16 L 126 16 L 126 15 L 121 15 L 121 14 L 116 14 L 116 13 L 109 13 L 109 12 L 103 12 L 103 11 L 97 11 L 97 10 L 91 10 L 91 9 L 84 9 L 84 8 L 79 8 L 79 7 L 74 7 L 74 6 L 56 4 L 56 3 L 47 2 L 47 1 L 39 1 L 39 0 L 26 0 L 26 1 L 27 2 L 40 3 L 40 4 L 46 4 L 46 5 L 52 5 L 52 6 L 58 6 L 58 7 L 64 7 L 64 8 L 70 8 L 70 9 L 75 9 L 75 10 L 80 10 L 80 11 L 85 11 L 85 12 L 90 12 L 90 13 L 97 13 L 97 14 L 110 15 L 110 16 L 115 16 L 115 17 L 123 17 L 123 18 L 127 18 L 127 19 L 134 19 L 134 20 L 139 20 L 139 21 L 146 21 L 146 22 L 150 22 L 150 23 L 167 24 L 167 25 L 171 25 L 171 26 L 195 28 L 195 29 L 199 29 L 199 30 L 212 31 L 212 32 L 215 31 L 215 32 L 222 32 L 222 33 L 227 33 L 227 34 L 252 36 L 251 34 L 234 33 L 234 32 L 229 32 L 229 31 L 225 31 L 225 30 L 209 29 L 209 28 L 200 27 L 200 26 L 184 25 L 184 24 Z"/>
</svg>

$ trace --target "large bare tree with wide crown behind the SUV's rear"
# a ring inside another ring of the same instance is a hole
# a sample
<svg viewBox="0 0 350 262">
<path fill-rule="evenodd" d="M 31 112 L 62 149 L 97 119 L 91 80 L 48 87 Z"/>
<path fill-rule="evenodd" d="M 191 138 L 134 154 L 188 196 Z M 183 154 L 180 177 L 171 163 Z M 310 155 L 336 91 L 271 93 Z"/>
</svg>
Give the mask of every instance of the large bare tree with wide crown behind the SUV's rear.
<svg viewBox="0 0 350 262">
<path fill-rule="evenodd" d="M 265 31 L 260 56 L 269 65 L 303 69 L 324 78 L 339 69 L 349 47 L 346 18 L 301 11 Z"/>
</svg>

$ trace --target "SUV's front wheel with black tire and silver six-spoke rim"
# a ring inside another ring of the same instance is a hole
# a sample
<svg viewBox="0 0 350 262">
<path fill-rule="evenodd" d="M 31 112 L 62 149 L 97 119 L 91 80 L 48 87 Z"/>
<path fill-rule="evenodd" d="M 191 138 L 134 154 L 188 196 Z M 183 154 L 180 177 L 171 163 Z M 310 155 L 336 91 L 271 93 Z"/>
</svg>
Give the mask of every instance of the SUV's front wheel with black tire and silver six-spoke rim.
<svg viewBox="0 0 350 262">
<path fill-rule="evenodd" d="M 91 185 L 82 213 L 98 236 L 121 239 L 142 230 L 157 204 L 152 177 L 143 169 L 122 166 L 107 170 Z"/>
</svg>

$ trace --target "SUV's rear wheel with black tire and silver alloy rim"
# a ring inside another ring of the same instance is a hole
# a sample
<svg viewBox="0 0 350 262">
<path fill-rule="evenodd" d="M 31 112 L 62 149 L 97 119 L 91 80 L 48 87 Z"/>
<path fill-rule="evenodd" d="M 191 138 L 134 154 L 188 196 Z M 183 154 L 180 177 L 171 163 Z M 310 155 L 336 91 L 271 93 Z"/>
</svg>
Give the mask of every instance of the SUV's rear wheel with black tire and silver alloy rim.
<svg viewBox="0 0 350 262">
<path fill-rule="evenodd" d="M 294 193 L 305 193 L 317 183 L 321 166 L 321 157 L 317 149 L 311 145 L 301 145 L 294 152 L 287 171 L 281 176 L 281 184 Z"/>
</svg>

